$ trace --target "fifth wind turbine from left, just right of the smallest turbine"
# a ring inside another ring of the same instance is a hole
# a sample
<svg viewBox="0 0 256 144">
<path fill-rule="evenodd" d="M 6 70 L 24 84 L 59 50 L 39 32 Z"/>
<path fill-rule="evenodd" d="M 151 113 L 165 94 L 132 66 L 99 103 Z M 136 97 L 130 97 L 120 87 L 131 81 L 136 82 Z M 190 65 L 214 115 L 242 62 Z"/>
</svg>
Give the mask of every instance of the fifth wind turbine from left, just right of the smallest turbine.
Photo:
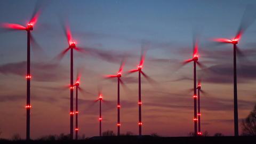
<svg viewBox="0 0 256 144">
<path fill-rule="evenodd" d="M 117 71 L 116 75 L 107 75 L 106 78 L 117 78 L 117 136 L 120 135 L 120 86 L 119 83 L 121 83 L 122 85 L 124 85 L 121 76 L 122 76 L 122 71 L 124 68 L 124 60 L 122 60 L 121 65 L 119 67 L 119 70 Z"/>
</svg>

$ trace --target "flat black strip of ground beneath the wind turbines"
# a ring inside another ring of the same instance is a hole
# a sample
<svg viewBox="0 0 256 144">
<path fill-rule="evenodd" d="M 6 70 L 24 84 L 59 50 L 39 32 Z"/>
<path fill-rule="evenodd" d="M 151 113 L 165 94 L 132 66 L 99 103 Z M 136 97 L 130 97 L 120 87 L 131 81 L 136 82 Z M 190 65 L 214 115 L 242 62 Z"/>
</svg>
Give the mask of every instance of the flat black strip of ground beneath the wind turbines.
<svg viewBox="0 0 256 144">
<path fill-rule="evenodd" d="M 87 140 L 78 141 L 8 141 L 0 140 L 0 143 L 179 143 L 179 144 L 193 144 L 193 143 L 253 143 L 256 144 L 256 137 L 151 137 L 148 135 L 138 136 L 120 136 L 120 137 L 92 137 Z"/>
</svg>

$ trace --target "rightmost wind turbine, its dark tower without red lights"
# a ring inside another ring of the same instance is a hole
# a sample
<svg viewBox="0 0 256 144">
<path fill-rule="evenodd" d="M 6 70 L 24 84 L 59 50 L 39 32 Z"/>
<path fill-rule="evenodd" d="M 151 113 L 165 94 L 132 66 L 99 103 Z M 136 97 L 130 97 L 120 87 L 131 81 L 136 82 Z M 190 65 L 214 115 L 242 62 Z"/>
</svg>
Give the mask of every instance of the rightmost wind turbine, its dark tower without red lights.
<svg viewBox="0 0 256 144">
<path fill-rule="evenodd" d="M 238 49 L 237 44 L 244 34 L 245 30 L 253 23 L 255 20 L 256 13 L 254 12 L 255 7 L 246 7 L 243 18 L 241 20 L 240 26 L 236 33 L 236 36 L 232 39 L 227 38 L 214 38 L 213 41 L 223 43 L 223 44 L 233 44 L 233 76 L 234 76 L 234 133 L 235 136 L 239 135 L 238 131 L 238 108 L 237 108 L 237 73 L 236 73 L 236 53 L 242 55 L 242 52 Z M 250 9 L 248 9 L 250 8 Z M 254 8 L 254 9 L 252 9 Z M 250 11 L 251 10 L 251 11 Z"/>
</svg>

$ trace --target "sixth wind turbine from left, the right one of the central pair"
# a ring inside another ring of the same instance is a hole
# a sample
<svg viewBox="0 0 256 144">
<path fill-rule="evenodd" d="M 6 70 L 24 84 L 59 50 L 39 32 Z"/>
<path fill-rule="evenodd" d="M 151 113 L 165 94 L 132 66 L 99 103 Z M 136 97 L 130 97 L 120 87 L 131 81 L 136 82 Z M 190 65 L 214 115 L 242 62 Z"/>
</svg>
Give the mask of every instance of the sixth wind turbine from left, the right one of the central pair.
<svg viewBox="0 0 256 144">
<path fill-rule="evenodd" d="M 148 75 L 146 75 L 143 71 L 142 71 L 142 67 L 145 61 L 145 55 L 146 55 L 146 51 L 143 51 L 143 49 L 141 50 L 141 55 L 140 55 L 140 63 L 137 67 L 137 69 L 133 69 L 130 70 L 128 73 L 135 73 L 138 71 L 139 73 L 139 101 L 138 101 L 138 106 L 139 106 L 139 135 L 142 135 L 142 119 L 141 119 L 141 105 L 142 105 L 142 101 L 141 101 L 141 74 L 148 80 L 151 81 L 150 77 Z"/>
</svg>

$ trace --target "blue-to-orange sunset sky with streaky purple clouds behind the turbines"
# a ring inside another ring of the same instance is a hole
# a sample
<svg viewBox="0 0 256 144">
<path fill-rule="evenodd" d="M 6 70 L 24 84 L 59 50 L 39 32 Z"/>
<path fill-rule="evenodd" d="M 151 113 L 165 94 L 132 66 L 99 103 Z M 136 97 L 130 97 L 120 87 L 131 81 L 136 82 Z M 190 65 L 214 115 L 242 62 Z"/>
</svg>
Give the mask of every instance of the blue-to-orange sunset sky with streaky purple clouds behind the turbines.
<svg viewBox="0 0 256 144">
<path fill-rule="evenodd" d="M 0 22 L 26 26 L 36 1 L 0 2 Z M 69 22 L 77 45 L 99 54 L 75 52 L 74 77 L 81 71 L 79 135 L 99 133 L 98 86 L 102 86 L 102 131 L 117 132 L 117 82 L 103 79 L 116 74 L 123 55 L 124 71 L 137 68 L 141 47 L 147 46 L 142 77 L 142 134 L 187 136 L 194 131 L 193 65 L 180 67 L 193 55 L 198 34 L 198 68 L 202 79 L 202 132 L 234 135 L 233 45 L 215 45 L 212 38 L 233 38 L 248 4 L 255 1 L 50 1 L 31 32 L 44 52 L 31 52 L 31 138 L 69 133 L 69 52 L 60 19 Z M 246 29 L 238 58 L 238 115 L 245 118 L 256 101 L 256 22 Z M 19 133 L 26 137 L 26 31 L 0 30 L 0 138 Z M 199 79 L 198 78 L 198 79 Z M 138 134 L 138 73 L 122 76 L 121 133 Z M 239 123 L 240 124 L 240 123 Z M 242 132 L 239 126 L 239 131 Z"/>
</svg>

